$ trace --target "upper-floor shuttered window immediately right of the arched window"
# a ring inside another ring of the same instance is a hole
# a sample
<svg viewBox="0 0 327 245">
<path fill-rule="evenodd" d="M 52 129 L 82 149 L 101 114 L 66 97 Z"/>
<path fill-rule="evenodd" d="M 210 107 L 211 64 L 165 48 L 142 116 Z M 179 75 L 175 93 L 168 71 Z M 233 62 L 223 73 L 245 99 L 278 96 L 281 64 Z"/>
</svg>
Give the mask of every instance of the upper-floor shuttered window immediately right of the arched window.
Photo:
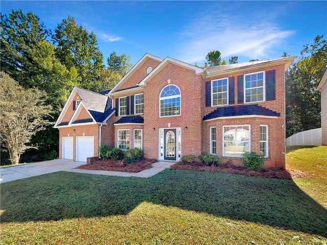
<svg viewBox="0 0 327 245">
<path fill-rule="evenodd" d="M 212 81 L 212 106 L 228 105 L 228 78 Z"/>
</svg>

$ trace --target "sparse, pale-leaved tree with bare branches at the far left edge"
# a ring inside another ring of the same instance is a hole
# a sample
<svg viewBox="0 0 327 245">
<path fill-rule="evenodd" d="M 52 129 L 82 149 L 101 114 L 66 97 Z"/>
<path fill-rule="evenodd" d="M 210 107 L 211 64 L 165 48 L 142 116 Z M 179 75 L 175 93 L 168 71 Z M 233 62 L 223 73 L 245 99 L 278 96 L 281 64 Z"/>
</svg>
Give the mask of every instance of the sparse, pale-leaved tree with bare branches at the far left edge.
<svg viewBox="0 0 327 245">
<path fill-rule="evenodd" d="M 18 164 L 21 153 L 33 147 L 28 145 L 32 136 L 50 123 L 44 115 L 51 106 L 45 104 L 45 92 L 24 89 L 5 72 L 0 78 L 0 133 L 12 164 Z"/>
</svg>

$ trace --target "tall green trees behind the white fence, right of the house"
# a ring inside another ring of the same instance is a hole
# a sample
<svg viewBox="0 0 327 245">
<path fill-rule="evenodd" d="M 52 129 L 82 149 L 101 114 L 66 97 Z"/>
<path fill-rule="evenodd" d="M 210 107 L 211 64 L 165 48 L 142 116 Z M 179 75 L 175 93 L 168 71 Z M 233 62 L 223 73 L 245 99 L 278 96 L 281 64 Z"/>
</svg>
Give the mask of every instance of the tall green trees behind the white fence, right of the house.
<svg viewBox="0 0 327 245">
<path fill-rule="evenodd" d="M 320 93 L 316 87 L 327 67 L 327 42 L 316 36 L 286 72 L 287 137 L 320 127 Z"/>
</svg>

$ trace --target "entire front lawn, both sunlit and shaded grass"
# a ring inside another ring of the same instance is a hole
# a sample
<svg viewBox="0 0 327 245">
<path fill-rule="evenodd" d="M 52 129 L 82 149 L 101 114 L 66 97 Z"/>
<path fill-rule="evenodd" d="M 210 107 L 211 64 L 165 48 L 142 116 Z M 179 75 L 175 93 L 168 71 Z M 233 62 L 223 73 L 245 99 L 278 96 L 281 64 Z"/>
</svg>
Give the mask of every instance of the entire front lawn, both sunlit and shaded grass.
<svg viewBox="0 0 327 245">
<path fill-rule="evenodd" d="M 290 167 L 314 175 L 167 169 L 149 179 L 58 172 L 4 183 L 1 243 L 327 244 L 327 146 L 290 150 L 288 160 L 301 159 Z"/>
</svg>

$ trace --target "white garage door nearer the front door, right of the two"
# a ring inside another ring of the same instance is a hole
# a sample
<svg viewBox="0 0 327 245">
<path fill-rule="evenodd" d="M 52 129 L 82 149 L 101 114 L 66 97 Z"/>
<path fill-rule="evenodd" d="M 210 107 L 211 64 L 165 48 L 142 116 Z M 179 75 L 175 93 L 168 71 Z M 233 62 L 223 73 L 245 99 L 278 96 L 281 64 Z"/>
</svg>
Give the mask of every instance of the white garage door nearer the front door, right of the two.
<svg viewBox="0 0 327 245">
<path fill-rule="evenodd" d="M 87 157 L 94 157 L 94 137 L 76 137 L 76 161 L 86 162 Z"/>
</svg>

